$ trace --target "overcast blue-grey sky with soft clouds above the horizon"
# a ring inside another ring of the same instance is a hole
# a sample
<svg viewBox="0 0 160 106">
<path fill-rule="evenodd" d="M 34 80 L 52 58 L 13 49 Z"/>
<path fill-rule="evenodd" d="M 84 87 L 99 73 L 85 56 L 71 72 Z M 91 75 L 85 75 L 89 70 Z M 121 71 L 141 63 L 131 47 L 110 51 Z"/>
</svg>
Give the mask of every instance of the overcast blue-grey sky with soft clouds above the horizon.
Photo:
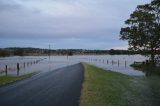
<svg viewBox="0 0 160 106">
<path fill-rule="evenodd" d="M 0 0 L 0 47 L 124 49 L 120 28 L 150 0 Z"/>
</svg>

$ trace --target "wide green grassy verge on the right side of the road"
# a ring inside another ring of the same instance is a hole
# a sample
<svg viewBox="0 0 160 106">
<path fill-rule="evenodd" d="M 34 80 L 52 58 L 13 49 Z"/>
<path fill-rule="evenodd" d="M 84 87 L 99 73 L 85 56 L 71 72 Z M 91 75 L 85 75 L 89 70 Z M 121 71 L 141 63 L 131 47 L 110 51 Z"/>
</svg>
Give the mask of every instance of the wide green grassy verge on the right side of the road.
<svg viewBox="0 0 160 106">
<path fill-rule="evenodd" d="M 84 64 L 80 106 L 155 106 L 159 104 L 159 78 L 131 77 Z M 155 88 L 152 92 L 150 89 Z M 156 92 L 156 93 L 155 93 Z M 154 95 L 155 93 L 155 95 Z M 152 97 L 152 96 L 153 97 Z M 158 100 L 158 101 L 156 101 Z"/>
</svg>

